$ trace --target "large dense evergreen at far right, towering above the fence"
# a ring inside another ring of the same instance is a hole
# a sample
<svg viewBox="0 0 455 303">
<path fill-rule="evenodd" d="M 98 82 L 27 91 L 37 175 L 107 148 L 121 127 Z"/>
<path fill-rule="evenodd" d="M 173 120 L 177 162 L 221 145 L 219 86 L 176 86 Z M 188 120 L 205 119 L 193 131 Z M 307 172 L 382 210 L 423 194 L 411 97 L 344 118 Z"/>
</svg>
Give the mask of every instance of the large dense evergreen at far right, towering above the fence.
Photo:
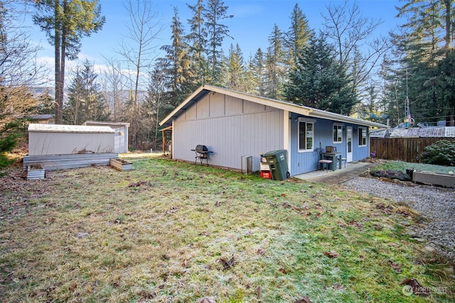
<svg viewBox="0 0 455 303">
<path fill-rule="evenodd" d="M 401 27 L 402 33 L 393 35 L 402 55 L 401 67 L 395 71 L 401 75 L 397 92 L 402 95 L 399 99 L 410 99 L 416 122 L 455 119 L 453 88 L 446 82 L 453 78 L 454 3 L 407 0 L 398 9 L 397 16 L 407 18 L 407 22 Z"/>
</svg>

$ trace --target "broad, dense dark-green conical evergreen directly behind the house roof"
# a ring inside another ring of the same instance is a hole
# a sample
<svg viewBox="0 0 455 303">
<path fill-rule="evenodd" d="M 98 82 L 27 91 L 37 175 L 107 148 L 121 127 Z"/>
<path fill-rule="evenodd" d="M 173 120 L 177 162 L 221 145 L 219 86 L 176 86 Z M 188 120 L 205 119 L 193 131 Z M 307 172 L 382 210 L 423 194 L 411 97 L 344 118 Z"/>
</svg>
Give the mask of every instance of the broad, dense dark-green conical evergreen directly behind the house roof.
<svg viewBox="0 0 455 303">
<path fill-rule="evenodd" d="M 302 49 L 284 95 L 293 103 L 338 114 L 349 114 L 357 101 L 346 68 L 336 60 L 332 45 L 323 37 L 311 38 Z"/>
</svg>

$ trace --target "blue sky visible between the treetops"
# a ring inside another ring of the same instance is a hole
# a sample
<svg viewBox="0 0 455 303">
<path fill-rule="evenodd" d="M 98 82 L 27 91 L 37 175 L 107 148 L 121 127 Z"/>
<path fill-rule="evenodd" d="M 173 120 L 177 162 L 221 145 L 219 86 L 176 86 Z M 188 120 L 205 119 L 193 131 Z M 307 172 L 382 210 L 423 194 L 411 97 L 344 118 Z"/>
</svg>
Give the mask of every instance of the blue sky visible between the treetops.
<svg viewBox="0 0 455 303">
<path fill-rule="evenodd" d="M 178 16 L 184 26 L 187 26 L 187 19 L 191 18 L 191 15 L 186 4 L 194 5 L 196 0 L 155 0 L 153 3 L 159 12 L 159 18 L 164 28 L 156 43 L 158 45 L 170 44 L 173 7 L 178 7 Z M 272 33 L 275 23 L 280 30 L 288 30 L 291 12 L 296 3 L 306 15 L 310 27 L 317 30 L 321 28 L 323 22 L 321 12 L 327 11 L 326 6 L 342 5 L 343 0 L 225 0 L 224 3 L 229 7 L 228 13 L 234 15 L 234 18 L 225 21 L 230 35 L 234 38 L 225 39 L 225 53 L 227 53 L 230 43 L 234 45 L 238 43 L 247 60 L 250 55 L 254 55 L 257 48 L 267 49 L 268 37 Z M 79 56 L 80 60 L 87 58 L 95 65 L 103 65 L 106 62 L 105 57 L 117 56 L 114 50 L 119 50 L 122 35 L 128 33 L 125 24 L 129 22 L 129 16 L 123 7 L 122 0 L 100 0 L 100 4 L 102 14 L 106 16 L 105 26 L 99 33 L 82 39 Z M 403 3 L 397 0 L 358 0 L 357 4 L 362 16 L 382 19 L 383 23 L 376 34 L 387 35 L 388 31 L 397 26 L 395 6 L 402 6 Z M 44 48 L 38 57 L 42 57 L 43 61 L 48 61 L 50 66 L 53 66 L 53 48 L 36 26 L 31 30 L 31 38 L 36 43 L 41 43 Z"/>
</svg>

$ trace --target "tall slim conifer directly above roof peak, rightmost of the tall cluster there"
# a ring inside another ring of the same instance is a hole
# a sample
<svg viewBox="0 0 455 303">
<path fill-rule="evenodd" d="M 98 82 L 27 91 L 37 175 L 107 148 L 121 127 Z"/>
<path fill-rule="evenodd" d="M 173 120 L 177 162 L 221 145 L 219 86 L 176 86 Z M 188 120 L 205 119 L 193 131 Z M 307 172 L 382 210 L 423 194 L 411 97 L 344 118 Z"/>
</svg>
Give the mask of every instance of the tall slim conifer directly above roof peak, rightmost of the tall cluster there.
<svg viewBox="0 0 455 303">
<path fill-rule="evenodd" d="M 228 6 L 223 0 L 208 0 L 203 11 L 205 18 L 205 31 L 208 34 L 207 59 L 210 65 L 210 84 L 222 84 L 223 51 L 221 47 L 223 40 L 229 36 L 228 26 L 221 23 L 232 15 L 228 15 Z"/>
</svg>

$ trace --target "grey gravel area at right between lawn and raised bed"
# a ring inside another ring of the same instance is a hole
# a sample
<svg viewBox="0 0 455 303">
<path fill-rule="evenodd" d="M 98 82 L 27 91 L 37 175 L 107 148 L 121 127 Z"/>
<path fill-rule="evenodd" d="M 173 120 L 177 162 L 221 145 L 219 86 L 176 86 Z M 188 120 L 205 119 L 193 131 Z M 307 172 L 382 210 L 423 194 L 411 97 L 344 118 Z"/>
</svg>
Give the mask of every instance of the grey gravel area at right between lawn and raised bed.
<svg viewBox="0 0 455 303">
<path fill-rule="evenodd" d="M 406 186 L 372 177 L 354 177 L 344 187 L 377 197 L 404 202 L 428 219 L 426 225 L 412 226 L 408 233 L 428 241 L 439 253 L 455 260 L 455 189 L 427 185 Z"/>
</svg>

